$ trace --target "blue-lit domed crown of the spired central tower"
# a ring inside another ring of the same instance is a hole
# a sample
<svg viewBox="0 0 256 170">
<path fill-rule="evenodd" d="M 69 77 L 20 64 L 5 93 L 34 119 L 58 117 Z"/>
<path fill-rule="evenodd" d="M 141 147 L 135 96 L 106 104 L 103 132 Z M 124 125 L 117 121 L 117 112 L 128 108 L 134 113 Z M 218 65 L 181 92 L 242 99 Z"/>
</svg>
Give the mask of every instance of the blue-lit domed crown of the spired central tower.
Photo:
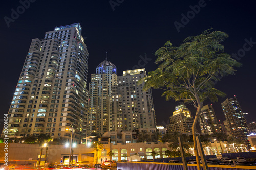
<svg viewBox="0 0 256 170">
<path fill-rule="evenodd" d="M 96 74 L 116 74 L 116 66 L 107 59 L 102 61 L 96 68 Z"/>
</svg>

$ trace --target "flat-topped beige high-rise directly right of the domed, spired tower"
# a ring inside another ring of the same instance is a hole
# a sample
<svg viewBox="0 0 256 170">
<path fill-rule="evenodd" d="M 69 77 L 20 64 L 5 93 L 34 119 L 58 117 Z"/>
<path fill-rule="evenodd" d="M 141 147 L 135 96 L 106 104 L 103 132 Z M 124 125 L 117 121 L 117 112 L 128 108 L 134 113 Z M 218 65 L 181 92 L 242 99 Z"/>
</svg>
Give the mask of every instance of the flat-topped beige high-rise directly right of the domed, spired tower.
<svg viewBox="0 0 256 170">
<path fill-rule="evenodd" d="M 152 91 L 143 91 L 145 82 L 137 84 L 143 77 L 146 77 L 144 68 L 123 71 L 123 75 L 118 76 L 118 96 L 113 95 L 111 99 L 113 112 L 110 131 L 118 128 L 127 131 L 156 128 Z"/>
</svg>

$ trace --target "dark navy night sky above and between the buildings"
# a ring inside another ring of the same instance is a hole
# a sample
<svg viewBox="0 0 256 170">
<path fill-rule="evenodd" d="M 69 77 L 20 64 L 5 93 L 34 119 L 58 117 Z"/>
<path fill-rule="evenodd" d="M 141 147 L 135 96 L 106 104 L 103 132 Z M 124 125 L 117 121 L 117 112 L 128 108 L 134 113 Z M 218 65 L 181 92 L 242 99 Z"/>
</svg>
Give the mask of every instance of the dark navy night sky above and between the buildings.
<svg viewBox="0 0 256 170">
<path fill-rule="evenodd" d="M 149 72 L 157 68 L 154 53 L 168 40 L 179 46 L 186 37 L 209 28 L 226 32 L 229 38 L 223 42 L 225 52 L 241 56 L 239 62 L 243 66 L 237 68 L 236 75 L 222 78 L 215 87 L 225 92 L 226 98 L 237 96 L 243 112 L 249 113 L 247 122 L 256 120 L 256 1 L 30 0 L 26 8 L 21 5 L 17 0 L 10 0 L 2 2 L 0 7 L 1 115 L 8 112 L 31 40 L 43 39 L 45 32 L 56 26 L 79 22 L 89 52 L 89 75 L 95 73 L 106 52 L 119 76 L 122 71 L 139 66 Z M 17 10 L 19 16 L 12 14 Z M 153 100 L 157 125 L 166 125 L 179 102 L 165 101 L 161 93 L 153 90 Z M 220 103 L 226 98 L 212 103 L 221 123 L 225 117 Z M 188 108 L 195 115 L 196 109 Z"/>
</svg>

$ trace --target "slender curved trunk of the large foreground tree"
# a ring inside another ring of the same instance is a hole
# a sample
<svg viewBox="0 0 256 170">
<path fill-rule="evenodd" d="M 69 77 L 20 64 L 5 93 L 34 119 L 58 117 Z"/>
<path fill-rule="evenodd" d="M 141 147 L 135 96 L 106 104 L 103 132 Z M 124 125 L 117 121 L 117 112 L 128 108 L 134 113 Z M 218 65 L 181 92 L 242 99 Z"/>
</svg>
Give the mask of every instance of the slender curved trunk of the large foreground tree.
<svg viewBox="0 0 256 170">
<path fill-rule="evenodd" d="M 193 142 L 194 142 L 194 153 L 195 153 L 195 157 L 196 157 L 196 161 L 197 161 L 197 169 L 200 170 L 200 159 L 198 156 L 198 148 L 197 148 L 197 140 L 196 140 L 196 125 L 197 125 L 197 121 L 198 121 L 198 115 L 201 112 L 202 109 L 202 104 L 200 102 L 199 96 L 196 93 L 195 94 L 195 98 L 197 100 L 197 104 L 198 104 L 198 109 L 197 109 L 197 113 L 192 125 L 192 136 L 193 136 Z"/>
</svg>

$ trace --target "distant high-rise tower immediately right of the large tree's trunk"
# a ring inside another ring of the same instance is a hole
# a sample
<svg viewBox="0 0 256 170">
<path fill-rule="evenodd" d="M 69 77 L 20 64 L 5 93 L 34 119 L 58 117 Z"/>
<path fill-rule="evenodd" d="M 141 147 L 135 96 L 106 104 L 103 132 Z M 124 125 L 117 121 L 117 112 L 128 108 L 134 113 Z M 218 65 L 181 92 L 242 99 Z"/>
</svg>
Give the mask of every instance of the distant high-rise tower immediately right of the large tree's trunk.
<svg viewBox="0 0 256 170">
<path fill-rule="evenodd" d="M 210 135 L 220 131 L 212 105 L 203 106 L 198 117 L 198 122 L 201 133 L 203 134 Z"/>
</svg>

